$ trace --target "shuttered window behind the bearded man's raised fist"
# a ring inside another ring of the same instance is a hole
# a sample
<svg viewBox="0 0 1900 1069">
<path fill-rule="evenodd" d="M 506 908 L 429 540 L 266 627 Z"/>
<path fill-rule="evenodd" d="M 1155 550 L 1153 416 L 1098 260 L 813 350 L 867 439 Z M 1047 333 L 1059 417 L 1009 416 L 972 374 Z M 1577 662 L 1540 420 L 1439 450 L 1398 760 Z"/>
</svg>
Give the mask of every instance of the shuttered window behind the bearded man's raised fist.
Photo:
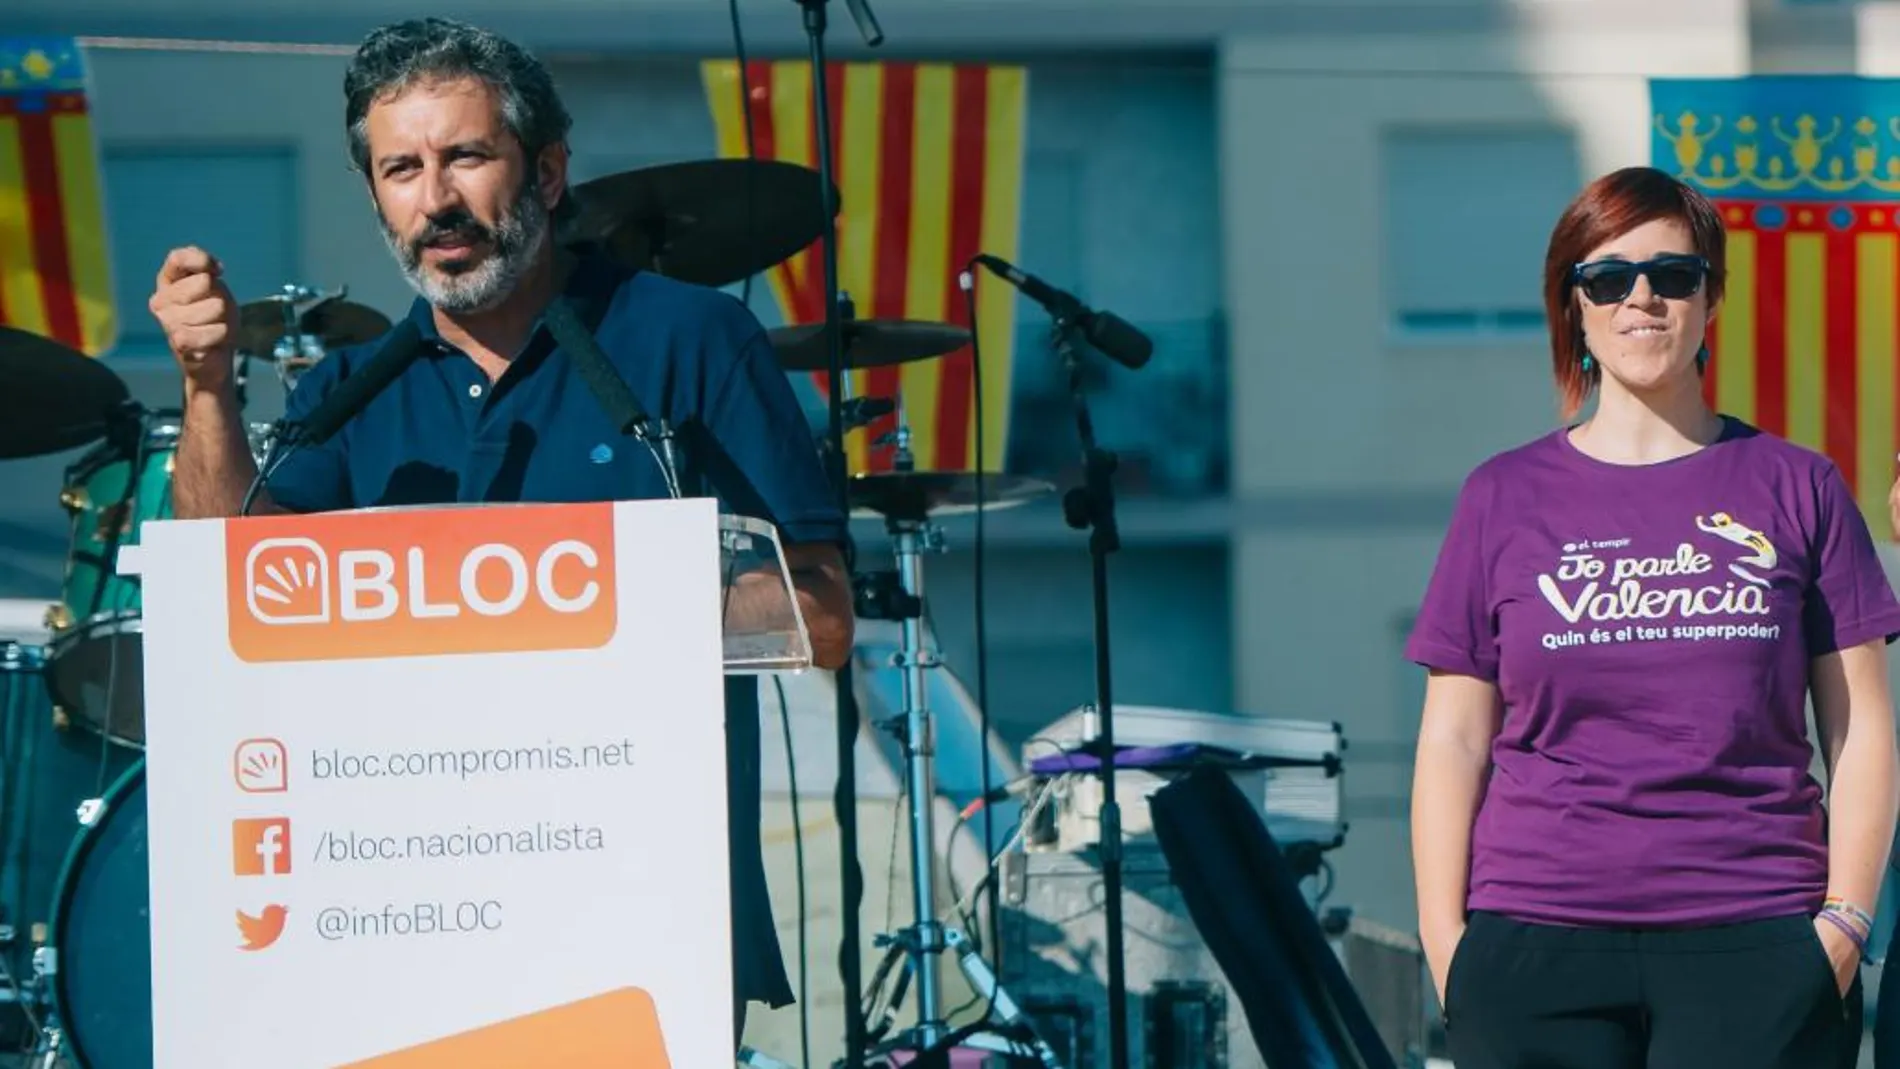
<svg viewBox="0 0 1900 1069">
<path fill-rule="evenodd" d="M 114 359 L 163 357 L 146 300 L 177 245 L 209 249 L 239 302 L 300 277 L 296 150 L 289 146 L 104 146 L 106 228 L 120 334 Z"/>
</svg>

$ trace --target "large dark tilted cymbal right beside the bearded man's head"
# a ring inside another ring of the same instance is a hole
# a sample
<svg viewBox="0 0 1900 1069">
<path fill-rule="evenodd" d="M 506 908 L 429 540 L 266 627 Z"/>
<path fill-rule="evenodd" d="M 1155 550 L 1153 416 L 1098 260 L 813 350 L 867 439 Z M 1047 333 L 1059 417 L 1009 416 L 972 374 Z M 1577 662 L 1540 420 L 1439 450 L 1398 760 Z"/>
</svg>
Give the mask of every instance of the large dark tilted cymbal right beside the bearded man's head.
<svg viewBox="0 0 1900 1069">
<path fill-rule="evenodd" d="M 724 287 L 825 235 L 819 188 L 817 171 L 777 159 L 640 167 L 574 186 L 580 215 L 562 239 L 598 241 L 623 264 Z"/>
</svg>

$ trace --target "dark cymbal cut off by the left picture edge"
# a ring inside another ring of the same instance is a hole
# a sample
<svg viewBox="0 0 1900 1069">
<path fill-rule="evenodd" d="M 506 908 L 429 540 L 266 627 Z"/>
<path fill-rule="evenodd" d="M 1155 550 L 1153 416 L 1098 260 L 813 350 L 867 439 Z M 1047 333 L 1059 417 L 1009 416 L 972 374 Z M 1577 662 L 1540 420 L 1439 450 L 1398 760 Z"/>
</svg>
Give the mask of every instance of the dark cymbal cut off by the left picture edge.
<svg viewBox="0 0 1900 1069">
<path fill-rule="evenodd" d="M 112 368 L 13 327 L 0 327 L 0 459 L 91 444 L 131 399 Z"/>
</svg>

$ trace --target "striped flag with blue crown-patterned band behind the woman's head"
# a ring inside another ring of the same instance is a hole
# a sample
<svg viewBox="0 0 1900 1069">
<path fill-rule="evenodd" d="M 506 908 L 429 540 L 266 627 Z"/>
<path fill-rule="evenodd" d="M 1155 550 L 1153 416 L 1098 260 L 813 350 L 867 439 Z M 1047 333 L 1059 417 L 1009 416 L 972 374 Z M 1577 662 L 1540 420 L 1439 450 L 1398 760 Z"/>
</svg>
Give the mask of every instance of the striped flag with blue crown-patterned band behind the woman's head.
<svg viewBox="0 0 1900 1069">
<path fill-rule="evenodd" d="M 1649 84 L 1653 163 L 1729 232 L 1710 403 L 1839 465 L 1875 537 L 1900 450 L 1900 82 Z"/>
</svg>

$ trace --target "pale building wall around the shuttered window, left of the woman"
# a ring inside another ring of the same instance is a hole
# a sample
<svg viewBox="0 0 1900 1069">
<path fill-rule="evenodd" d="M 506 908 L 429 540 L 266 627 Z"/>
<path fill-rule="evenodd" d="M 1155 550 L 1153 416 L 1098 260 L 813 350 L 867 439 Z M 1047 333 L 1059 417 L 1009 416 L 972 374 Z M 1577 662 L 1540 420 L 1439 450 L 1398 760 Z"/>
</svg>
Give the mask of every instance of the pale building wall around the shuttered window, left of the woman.
<svg viewBox="0 0 1900 1069">
<path fill-rule="evenodd" d="M 1645 78 L 1742 72 L 1742 8 L 1526 6 L 1512 34 L 1222 46 L 1233 477 L 1250 516 L 1233 537 L 1235 695 L 1243 710 L 1345 725 L 1357 816 L 1334 856 L 1334 904 L 1414 923 L 1404 796 L 1419 684 L 1400 661 L 1406 619 L 1465 473 L 1556 420 L 1539 336 L 1393 336 L 1381 133 L 1568 129 L 1577 186 L 1647 163 Z M 1444 256 L 1457 272 L 1459 249 Z M 1539 270 L 1522 264 L 1533 285 Z M 1336 520 L 1248 507 L 1288 492 L 1330 499 Z"/>
</svg>

